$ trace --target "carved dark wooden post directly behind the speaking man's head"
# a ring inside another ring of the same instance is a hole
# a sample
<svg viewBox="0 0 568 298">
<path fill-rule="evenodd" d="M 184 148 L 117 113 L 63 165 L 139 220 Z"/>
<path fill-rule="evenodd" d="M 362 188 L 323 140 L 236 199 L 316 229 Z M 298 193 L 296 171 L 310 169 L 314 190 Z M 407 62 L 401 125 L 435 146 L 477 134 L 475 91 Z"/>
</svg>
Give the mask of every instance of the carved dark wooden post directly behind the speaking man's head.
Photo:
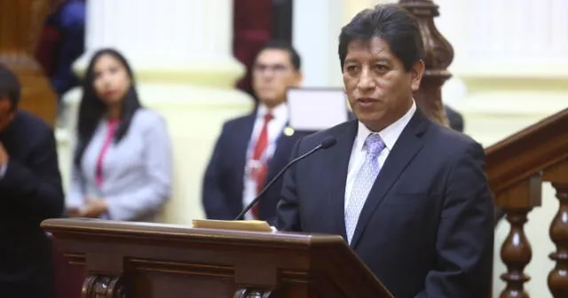
<svg viewBox="0 0 568 298">
<path fill-rule="evenodd" d="M 399 0 L 398 4 L 418 19 L 424 41 L 426 71 L 414 98 L 430 119 L 449 125 L 442 103 L 442 86 L 452 76 L 447 67 L 454 59 L 454 49 L 434 24 L 434 18 L 439 16 L 438 5 L 431 0 Z"/>
</svg>

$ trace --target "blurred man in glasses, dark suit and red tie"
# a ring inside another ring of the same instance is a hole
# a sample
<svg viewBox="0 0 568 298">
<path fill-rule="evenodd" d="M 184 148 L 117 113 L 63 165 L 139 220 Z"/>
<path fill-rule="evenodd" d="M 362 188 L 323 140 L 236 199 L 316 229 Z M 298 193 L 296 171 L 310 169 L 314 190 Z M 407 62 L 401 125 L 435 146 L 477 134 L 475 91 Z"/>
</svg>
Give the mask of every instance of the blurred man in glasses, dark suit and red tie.
<svg viewBox="0 0 568 298">
<path fill-rule="evenodd" d="M 202 202 L 209 219 L 231 220 L 289 160 L 296 141 L 310 132 L 288 127 L 288 88 L 302 82 L 300 57 L 288 43 L 264 45 L 252 69 L 258 98 L 248 115 L 225 122 L 205 172 Z M 245 219 L 273 222 L 281 180 L 272 185 Z"/>
</svg>

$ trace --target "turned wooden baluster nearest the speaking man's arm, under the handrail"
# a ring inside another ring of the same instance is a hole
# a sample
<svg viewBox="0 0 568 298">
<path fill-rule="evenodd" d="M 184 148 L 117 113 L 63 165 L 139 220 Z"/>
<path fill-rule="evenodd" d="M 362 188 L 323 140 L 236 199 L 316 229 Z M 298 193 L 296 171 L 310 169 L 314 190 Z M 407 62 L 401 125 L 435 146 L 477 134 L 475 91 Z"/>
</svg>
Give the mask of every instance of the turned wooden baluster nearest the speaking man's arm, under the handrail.
<svg viewBox="0 0 568 298">
<path fill-rule="evenodd" d="M 540 175 L 532 176 L 501 192 L 496 203 L 507 213 L 510 223 L 509 234 L 501 246 L 501 260 L 507 266 L 507 272 L 501 279 L 507 283 L 500 298 L 528 298 L 525 283 L 530 277 L 525 274 L 525 267 L 533 258 L 531 243 L 525 235 L 527 215 L 534 207 L 540 206 L 542 200 L 542 180 Z"/>
</svg>

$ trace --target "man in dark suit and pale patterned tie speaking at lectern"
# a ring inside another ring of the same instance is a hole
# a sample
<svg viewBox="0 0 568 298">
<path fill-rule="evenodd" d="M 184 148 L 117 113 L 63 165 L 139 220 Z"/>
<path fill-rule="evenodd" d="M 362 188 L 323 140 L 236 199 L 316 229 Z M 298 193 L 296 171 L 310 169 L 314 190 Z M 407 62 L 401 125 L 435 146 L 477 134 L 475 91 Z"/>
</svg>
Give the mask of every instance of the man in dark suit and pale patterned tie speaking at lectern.
<svg viewBox="0 0 568 298">
<path fill-rule="evenodd" d="M 413 92 L 424 73 L 418 23 L 398 5 L 341 31 L 343 83 L 357 120 L 300 139 L 277 210 L 280 231 L 342 235 L 397 298 L 485 297 L 493 196 L 471 138 L 430 121 Z"/>
</svg>

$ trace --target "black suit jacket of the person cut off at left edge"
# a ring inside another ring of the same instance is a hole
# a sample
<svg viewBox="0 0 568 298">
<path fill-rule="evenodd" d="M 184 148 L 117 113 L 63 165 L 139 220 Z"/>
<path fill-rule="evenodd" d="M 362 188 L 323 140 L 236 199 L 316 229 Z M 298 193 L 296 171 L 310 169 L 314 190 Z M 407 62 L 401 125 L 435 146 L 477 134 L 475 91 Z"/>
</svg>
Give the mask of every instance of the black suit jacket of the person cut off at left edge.
<svg viewBox="0 0 568 298">
<path fill-rule="evenodd" d="M 40 223 L 63 213 L 55 138 L 36 116 L 18 112 L 0 141 L 10 155 L 0 179 L 0 293 L 51 297 L 51 244 Z"/>
</svg>

